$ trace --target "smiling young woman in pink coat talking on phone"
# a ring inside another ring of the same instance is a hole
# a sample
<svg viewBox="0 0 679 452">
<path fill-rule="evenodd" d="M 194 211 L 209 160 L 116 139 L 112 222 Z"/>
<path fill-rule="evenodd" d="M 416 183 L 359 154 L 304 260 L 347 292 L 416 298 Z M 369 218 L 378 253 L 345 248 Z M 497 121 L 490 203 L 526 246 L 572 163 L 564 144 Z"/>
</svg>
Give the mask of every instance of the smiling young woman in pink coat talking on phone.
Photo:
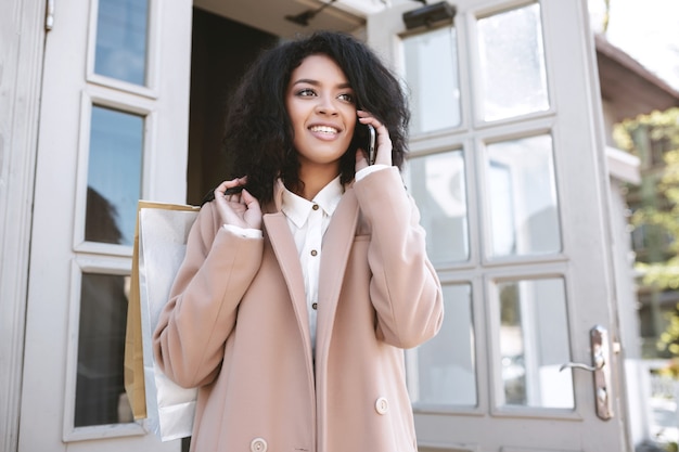
<svg viewBox="0 0 679 452">
<path fill-rule="evenodd" d="M 200 388 L 192 451 L 417 450 L 403 349 L 438 332 L 443 299 L 400 178 L 407 124 L 349 36 L 286 42 L 244 77 L 236 177 L 202 207 L 154 335 L 163 371 Z"/>
</svg>

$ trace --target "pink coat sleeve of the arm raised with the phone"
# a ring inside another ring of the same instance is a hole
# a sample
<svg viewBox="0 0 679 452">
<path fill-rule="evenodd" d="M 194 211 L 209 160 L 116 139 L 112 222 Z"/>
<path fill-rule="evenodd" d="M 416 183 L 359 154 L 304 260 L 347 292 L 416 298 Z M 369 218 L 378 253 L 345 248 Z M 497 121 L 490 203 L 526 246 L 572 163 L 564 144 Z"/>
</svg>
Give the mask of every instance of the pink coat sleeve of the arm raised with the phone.
<svg viewBox="0 0 679 452">
<path fill-rule="evenodd" d="M 420 212 L 396 167 L 367 176 L 354 189 L 372 229 L 368 262 L 377 338 L 400 348 L 417 347 L 438 333 L 444 315 Z"/>
</svg>

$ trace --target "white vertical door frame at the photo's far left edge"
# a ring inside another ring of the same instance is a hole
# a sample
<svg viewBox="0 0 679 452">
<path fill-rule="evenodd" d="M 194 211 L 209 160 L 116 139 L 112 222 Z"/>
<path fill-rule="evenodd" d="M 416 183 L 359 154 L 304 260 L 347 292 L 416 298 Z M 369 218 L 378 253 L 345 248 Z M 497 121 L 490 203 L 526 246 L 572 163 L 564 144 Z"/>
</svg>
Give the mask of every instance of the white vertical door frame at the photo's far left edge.
<svg viewBox="0 0 679 452">
<path fill-rule="evenodd" d="M 44 0 L 10 0 L 0 15 L 0 450 L 16 450 L 44 51 Z M 7 102 L 7 103 L 5 103 Z"/>
</svg>

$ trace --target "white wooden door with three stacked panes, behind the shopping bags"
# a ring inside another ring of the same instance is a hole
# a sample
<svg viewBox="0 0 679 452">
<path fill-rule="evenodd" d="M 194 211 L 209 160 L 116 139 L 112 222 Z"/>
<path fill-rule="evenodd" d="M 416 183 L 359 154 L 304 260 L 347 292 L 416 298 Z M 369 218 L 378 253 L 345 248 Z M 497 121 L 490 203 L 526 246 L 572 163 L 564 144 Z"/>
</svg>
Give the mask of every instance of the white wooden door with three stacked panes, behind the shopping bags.
<svg viewBox="0 0 679 452">
<path fill-rule="evenodd" d="M 48 3 L 18 450 L 179 451 L 123 348 L 137 199 L 184 199 L 192 2 Z"/>
</svg>

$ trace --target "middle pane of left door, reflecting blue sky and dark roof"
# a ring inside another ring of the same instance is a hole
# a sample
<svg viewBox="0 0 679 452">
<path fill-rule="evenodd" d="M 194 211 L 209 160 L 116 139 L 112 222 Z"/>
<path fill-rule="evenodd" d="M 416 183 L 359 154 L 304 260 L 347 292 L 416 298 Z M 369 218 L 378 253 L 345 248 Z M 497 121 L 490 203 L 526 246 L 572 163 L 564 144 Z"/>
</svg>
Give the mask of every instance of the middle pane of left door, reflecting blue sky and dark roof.
<svg viewBox="0 0 679 452">
<path fill-rule="evenodd" d="M 144 119 L 92 107 L 85 240 L 132 245 Z"/>
</svg>

